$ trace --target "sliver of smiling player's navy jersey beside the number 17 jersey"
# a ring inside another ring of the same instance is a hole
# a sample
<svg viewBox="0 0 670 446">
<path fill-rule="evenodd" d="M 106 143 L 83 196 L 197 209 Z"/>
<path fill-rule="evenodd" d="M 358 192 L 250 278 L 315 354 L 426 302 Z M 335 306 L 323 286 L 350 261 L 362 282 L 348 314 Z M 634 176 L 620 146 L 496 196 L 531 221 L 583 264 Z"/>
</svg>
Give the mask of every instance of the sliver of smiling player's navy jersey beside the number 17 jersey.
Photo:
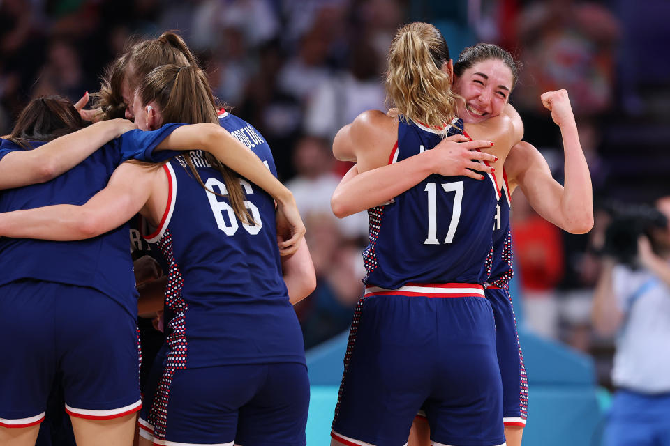
<svg viewBox="0 0 670 446">
<path fill-rule="evenodd" d="M 502 194 L 496 206 L 493 220 L 493 252 L 491 254 L 491 275 L 487 282 L 502 289 L 509 289 L 509 281 L 514 275 L 512 270 L 512 231 L 509 226 L 509 187 L 507 176 L 502 172 L 504 182 Z"/>
</svg>

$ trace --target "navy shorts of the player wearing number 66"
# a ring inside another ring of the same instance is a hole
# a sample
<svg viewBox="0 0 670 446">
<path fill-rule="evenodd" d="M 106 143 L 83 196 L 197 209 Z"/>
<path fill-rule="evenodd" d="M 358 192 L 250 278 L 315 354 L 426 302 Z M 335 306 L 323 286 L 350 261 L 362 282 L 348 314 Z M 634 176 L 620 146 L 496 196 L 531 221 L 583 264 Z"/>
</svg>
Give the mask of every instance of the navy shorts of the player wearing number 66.
<svg viewBox="0 0 670 446">
<path fill-rule="evenodd" d="M 156 445 L 306 444 L 309 381 L 304 364 L 176 369 L 169 388 L 163 386 L 164 380 L 148 419 L 140 418 L 140 434 Z"/>
</svg>

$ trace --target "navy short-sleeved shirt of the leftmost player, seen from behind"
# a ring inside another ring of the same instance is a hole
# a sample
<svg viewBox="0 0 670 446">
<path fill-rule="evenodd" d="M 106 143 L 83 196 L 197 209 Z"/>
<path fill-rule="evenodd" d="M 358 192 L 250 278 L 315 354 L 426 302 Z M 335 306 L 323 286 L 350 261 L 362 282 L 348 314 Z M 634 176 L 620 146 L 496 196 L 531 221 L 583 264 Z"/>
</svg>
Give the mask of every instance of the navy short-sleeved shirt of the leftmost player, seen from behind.
<svg viewBox="0 0 670 446">
<path fill-rule="evenodd" d="M 160 141 L 155 132 L 127 132 L 47 183 L 0 191 L 0 212 L 52 204 L 84 204 L 107 185 L 123 160 L 148 159 Z M 34 142 L 30 146 L 43 144 Z M 0 162 L 8 153 L 21 150 L 24 149 L 12 141 L 2 140 Z M 166 155 L 171 154 L 165 152 L 154 157 Z M 128 254 L 128 224 L 95 238 L 71 242 L 0 238 L 0 284 L 18 279 L 89 286 L 109 295 L 131 314 L 137 314 L 133 263 Z"/>
</svg>

